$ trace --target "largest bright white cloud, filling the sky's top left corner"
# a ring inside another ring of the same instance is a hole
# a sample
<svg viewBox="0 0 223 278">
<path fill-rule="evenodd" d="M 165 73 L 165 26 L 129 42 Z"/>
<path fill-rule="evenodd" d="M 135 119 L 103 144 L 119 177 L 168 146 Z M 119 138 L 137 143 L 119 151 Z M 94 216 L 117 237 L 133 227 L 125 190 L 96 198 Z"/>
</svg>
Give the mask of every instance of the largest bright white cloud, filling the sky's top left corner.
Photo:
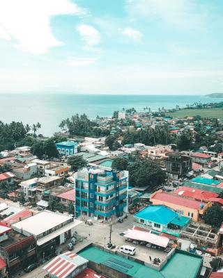
<svg viewBox="0 0 223 278">
<path fill-rule="evenodd" d="M 43 54 L 49 48 L 63 44 L 52 34 L 50 19 L 57 15 L 84 13 L 85 10 L 70 0 L 1 0 L 0 26 L 20 49 Z"/>
</svg>

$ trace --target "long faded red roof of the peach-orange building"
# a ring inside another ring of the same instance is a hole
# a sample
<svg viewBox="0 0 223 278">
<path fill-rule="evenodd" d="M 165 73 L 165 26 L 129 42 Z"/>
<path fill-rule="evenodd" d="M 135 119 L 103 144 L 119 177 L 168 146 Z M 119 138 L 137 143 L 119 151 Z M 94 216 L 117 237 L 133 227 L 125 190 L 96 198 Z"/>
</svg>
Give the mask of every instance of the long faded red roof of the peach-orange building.
<svg viewBox="0 0 223 278">
<path fill-rule="evenodd" d="M 201 202 L 199 202 L 199 201 L 195 201 L 193 199 L 187 199 L 185 197 L 180 197 L 178 195 L 171 194 L 171 193 L 157 192 L 151 196 L 152 202 L 153 202 L 153 199 L 155 199 L 157 201 L 166 202 L 169 204 L 176 204 L 178 206 L 185 206 L 187 208 L 199 209 L 201 206 Z"/>
</svg>

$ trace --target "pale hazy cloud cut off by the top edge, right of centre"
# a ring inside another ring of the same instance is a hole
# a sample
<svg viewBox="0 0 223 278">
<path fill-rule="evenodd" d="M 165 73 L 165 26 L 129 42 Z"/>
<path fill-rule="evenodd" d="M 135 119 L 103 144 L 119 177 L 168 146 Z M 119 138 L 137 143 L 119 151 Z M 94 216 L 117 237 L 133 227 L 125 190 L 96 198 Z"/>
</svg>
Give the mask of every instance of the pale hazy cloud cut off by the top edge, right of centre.
<svg viewBox="0 0 223 278">
<path fill-rule="evenodd" d="M 192 0 L 126 0 L 126 8 L 132 17 L 161 19 L 178 27 L 200 25 L 205 17 L 205 7 Z"/>
</svg>

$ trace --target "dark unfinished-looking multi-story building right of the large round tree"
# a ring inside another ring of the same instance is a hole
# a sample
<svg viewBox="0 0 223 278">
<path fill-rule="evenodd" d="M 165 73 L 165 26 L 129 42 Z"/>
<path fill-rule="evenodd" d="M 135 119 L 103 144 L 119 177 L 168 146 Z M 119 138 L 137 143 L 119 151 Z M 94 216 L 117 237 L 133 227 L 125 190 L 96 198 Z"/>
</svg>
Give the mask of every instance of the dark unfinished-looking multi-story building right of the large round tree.
<svg viewBox="0 0 223 278">
<path fill-rule="evenodd" d="M 165 160 L 167 174 L 171 179 L 178 179 L 192 170 L 192 159 L 179 152 L 170 152 Z"/>
</svg>

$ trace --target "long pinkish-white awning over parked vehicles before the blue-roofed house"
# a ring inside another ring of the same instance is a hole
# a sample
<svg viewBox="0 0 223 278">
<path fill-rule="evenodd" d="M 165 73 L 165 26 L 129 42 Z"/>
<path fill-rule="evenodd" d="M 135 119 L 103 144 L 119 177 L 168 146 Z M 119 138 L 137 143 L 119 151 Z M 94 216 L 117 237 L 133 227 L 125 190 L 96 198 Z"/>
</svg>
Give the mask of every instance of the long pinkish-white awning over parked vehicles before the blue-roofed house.
<svg viewBox="0 0 223 278">
<path fill-rule="evenodd" d="M 146 243 L 151 243 L 164 248 L 167 247 L 169 243 L 169 238 L 165 238 L 164 236 L 157 236 L 155 234 L 151 234 L 148 231 L 138 231 L 135 229 L 129 229 L 124 236 L 125 238 L 146 241 Z"/>
</svg>

